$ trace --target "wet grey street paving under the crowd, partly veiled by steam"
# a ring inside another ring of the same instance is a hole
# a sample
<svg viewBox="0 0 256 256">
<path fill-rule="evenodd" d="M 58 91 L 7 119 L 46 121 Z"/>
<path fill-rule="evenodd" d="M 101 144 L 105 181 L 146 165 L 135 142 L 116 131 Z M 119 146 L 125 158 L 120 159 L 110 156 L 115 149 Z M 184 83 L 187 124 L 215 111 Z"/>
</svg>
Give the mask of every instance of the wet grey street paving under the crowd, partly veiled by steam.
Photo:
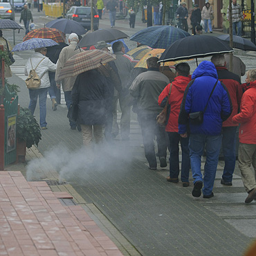
<svg viewBox="0 0 256 256">
<path fill-rule="evenodd" d="M 101 28 L 110 26 L 106 18 L 105 14 L 100 21 Z M 42 17 L 38 20 L 44 23 Z M 116 28 L 128 35 L 145 27 L 139 21 L 135 29 L 129 28 L 128 20 L 116 22 Z M 219 35 L 219 32 L 212 35 Z M 125 42 L 130 48 L 136 46 L 128 39 Z M 30 54 L 15 53 L 14 74 L 8 79 L 21 87 L 21 107 L 28 107 L 29 102 L 23 71 Z M 255 68 L 253 53 L 236 51 L 235 54 L 244 61 L 246 70 Z M 209 59 L 199 59 L 199 62 Z M 188 63 L 194 71 L 195 60 Z M 66 114 L 64 104 L 58 106 L 57 111 L 52 111 L 51 100 L 47 100 L 48 130 L 42 131 L 39 152 L 34 154 L 36 149 L 30 150 L 28 165 L 19 165 L 19 168 L 32 181 L 45 180 L 49 184 L 51 180 L 66 181 L 66 185 L 50 186 L 53 190 L 62 190 L 64 186 L 75 194 L 77 203 L 90 212 L 123 254 L 242 255 L 255 239 L 256 203 L 244 203 L 246 192 L 237 166 L 233 185 L 227 187 L 220 184 L 223 161 L 219 161 L 214 197 L 194 199 L 191 195 L 192 178 L 190 187 L 183 188 L 181 183 L 165 180 L 168 167 L 148 170 L 141 147 L 141 131 L 134 113 L 130 140 L 122 141 L 118 136 L 111 145 L 96 148 L 93 162 L 81 149 L 82 134 L 70 129 Z M 38 106 L 35 116 L 39 120 Z M 37 161 L 41 154 L 44 158 Z M 8 166 L 8 170 L 13 168 L 14 165 Z"/>
</svg>

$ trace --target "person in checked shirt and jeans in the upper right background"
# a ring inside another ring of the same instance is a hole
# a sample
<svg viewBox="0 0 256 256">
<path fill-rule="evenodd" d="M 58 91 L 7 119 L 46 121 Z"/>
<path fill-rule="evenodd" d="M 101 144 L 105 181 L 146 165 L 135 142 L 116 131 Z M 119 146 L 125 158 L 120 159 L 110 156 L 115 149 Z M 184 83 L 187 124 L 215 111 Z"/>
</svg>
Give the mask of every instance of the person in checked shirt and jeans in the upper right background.
<svg viewBox="0 0 256 256">
<path fill-rule="evenodd" d="M 227 20 L 229 21 L 229 6 L 227 10 Z M 237 0 L 232 0 L 232 34 L 241 37 L 241 21 L 244 19 L 241 6 Z"/>
</svg>

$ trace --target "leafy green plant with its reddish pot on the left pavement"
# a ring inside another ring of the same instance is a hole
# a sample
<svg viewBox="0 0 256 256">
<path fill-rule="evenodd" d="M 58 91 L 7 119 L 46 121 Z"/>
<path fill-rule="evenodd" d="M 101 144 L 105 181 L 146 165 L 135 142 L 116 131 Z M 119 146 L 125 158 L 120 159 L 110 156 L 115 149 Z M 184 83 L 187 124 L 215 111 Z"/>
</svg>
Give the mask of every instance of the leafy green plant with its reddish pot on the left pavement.
<svg viewBox="0 0 256 256">
<path fill-rule="evenodd" d="M 17 116 L 17 159 L 24 162 L 26 147 L 37 145 L 42 139 L 41 129 L 30 109 L 20 108 Z"/>
</svg>

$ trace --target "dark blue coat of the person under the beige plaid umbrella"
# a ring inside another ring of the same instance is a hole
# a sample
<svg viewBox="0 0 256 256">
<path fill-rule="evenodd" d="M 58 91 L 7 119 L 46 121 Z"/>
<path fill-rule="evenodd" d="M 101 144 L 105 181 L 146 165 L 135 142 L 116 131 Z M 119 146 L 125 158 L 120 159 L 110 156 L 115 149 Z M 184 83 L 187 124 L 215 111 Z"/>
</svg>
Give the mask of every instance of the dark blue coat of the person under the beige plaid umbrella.
<svg viewBox="0 0 256 256">
<path fill-rule="evenodd" d="M 104 125 L 109 99 L 106 78 L 96 69 L 77 76 L 72 89 L 73 104 L 78 104 L 77 122 L 81 125 Z"/>
</svg>

